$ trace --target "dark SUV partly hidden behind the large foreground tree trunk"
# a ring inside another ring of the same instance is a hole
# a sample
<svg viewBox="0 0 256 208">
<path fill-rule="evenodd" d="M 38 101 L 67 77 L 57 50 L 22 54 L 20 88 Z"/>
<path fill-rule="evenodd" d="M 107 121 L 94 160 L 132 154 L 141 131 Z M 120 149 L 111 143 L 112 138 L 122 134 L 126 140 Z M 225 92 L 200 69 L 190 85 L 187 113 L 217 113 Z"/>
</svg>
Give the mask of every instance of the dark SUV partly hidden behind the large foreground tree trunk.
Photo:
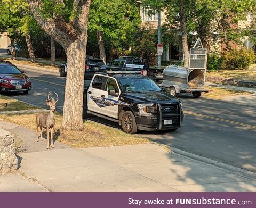
<svg viewBox="0 0 256 208">
<path fill-rule="evenodd" d="M 85 72 L 84 79 L 92 79 L 96 72 L 100 71 L 100 66 L 104 65 L 101 59 L 93 56 L 86 56 L 85 60 Z M 60 76 L 65 77 L 67 75 L 67 62 L 60 65 Z"/>
</svg>

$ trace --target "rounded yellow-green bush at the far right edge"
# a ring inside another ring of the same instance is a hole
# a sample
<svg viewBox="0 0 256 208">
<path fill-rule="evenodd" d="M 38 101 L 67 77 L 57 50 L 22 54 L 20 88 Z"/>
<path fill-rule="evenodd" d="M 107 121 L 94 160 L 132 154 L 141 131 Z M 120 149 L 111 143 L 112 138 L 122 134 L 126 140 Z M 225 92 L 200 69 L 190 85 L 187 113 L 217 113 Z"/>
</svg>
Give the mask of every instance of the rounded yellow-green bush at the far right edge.
<svg viewBox="0 0 256 208">
<path fill-rule="evenodd" d="M 243 70 L 249 68 L 256 56 L 252 49 L 249 51 L 242 49 L 240 51 L 227 51 L 221 58 L 223 60 L 222 69 Z"/>
</svg>

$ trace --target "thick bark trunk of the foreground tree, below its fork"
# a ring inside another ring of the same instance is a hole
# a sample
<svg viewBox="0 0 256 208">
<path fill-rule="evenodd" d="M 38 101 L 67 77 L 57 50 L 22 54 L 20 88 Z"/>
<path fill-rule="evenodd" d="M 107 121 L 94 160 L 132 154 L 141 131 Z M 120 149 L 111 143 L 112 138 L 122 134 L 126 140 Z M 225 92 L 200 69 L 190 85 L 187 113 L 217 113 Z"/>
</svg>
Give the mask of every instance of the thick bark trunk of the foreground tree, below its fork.
<svg viewBox="0 0 256 208">
<path fill-rule="evenodd" d="M 77 54 L 79 54 L 79 56 Z M 63 108 L 63 129 L 83 129 L 82 114 L 85 56 L 86 45 L 80 41 L 72 43 L 67 49 L 68 73 L 65 87 L 65 102 Z"/>
</svg>

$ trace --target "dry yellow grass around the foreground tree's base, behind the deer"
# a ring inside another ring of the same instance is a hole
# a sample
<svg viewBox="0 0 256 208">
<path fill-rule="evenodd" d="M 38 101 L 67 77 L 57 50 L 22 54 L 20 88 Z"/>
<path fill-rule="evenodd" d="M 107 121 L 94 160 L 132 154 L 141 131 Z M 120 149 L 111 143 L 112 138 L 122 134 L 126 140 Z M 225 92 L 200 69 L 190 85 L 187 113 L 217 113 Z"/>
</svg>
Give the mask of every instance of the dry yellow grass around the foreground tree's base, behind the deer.
<svg viewBox="0 0 256 208">
<path fill-rule="evenodd" d="M 36 129 L 36 114 L 2 114 L 1 119 L 19 124 L 31 130 Z M 55 114 L 55 132 L 54 139 L 65 143 L 71 147 L 107 147 L 116 145 L 133 145 L 149 143 L 146 138 L 125 134 L 123 131 L 105 127 L 91 121 L 84 121 L 82 131 L 62 130 L 62 115 Z M 46 138 L 46 135 L 44 135 Z"/>
</svg>

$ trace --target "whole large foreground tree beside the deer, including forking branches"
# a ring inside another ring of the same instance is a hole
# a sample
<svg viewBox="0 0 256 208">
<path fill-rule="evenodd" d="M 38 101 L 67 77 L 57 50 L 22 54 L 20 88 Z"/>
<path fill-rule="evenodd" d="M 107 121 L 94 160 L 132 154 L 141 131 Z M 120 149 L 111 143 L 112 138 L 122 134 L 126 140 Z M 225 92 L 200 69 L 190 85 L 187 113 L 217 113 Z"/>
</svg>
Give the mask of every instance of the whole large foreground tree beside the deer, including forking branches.
<svg viewBox="0 0 256 208">
<path fill-rule="evenodd" d="M 28 3 L 39 26 L 67 54 L 62 128 L 82 130 L 87 22 L 92 0 L 28 0 Z"/>
</svg>

